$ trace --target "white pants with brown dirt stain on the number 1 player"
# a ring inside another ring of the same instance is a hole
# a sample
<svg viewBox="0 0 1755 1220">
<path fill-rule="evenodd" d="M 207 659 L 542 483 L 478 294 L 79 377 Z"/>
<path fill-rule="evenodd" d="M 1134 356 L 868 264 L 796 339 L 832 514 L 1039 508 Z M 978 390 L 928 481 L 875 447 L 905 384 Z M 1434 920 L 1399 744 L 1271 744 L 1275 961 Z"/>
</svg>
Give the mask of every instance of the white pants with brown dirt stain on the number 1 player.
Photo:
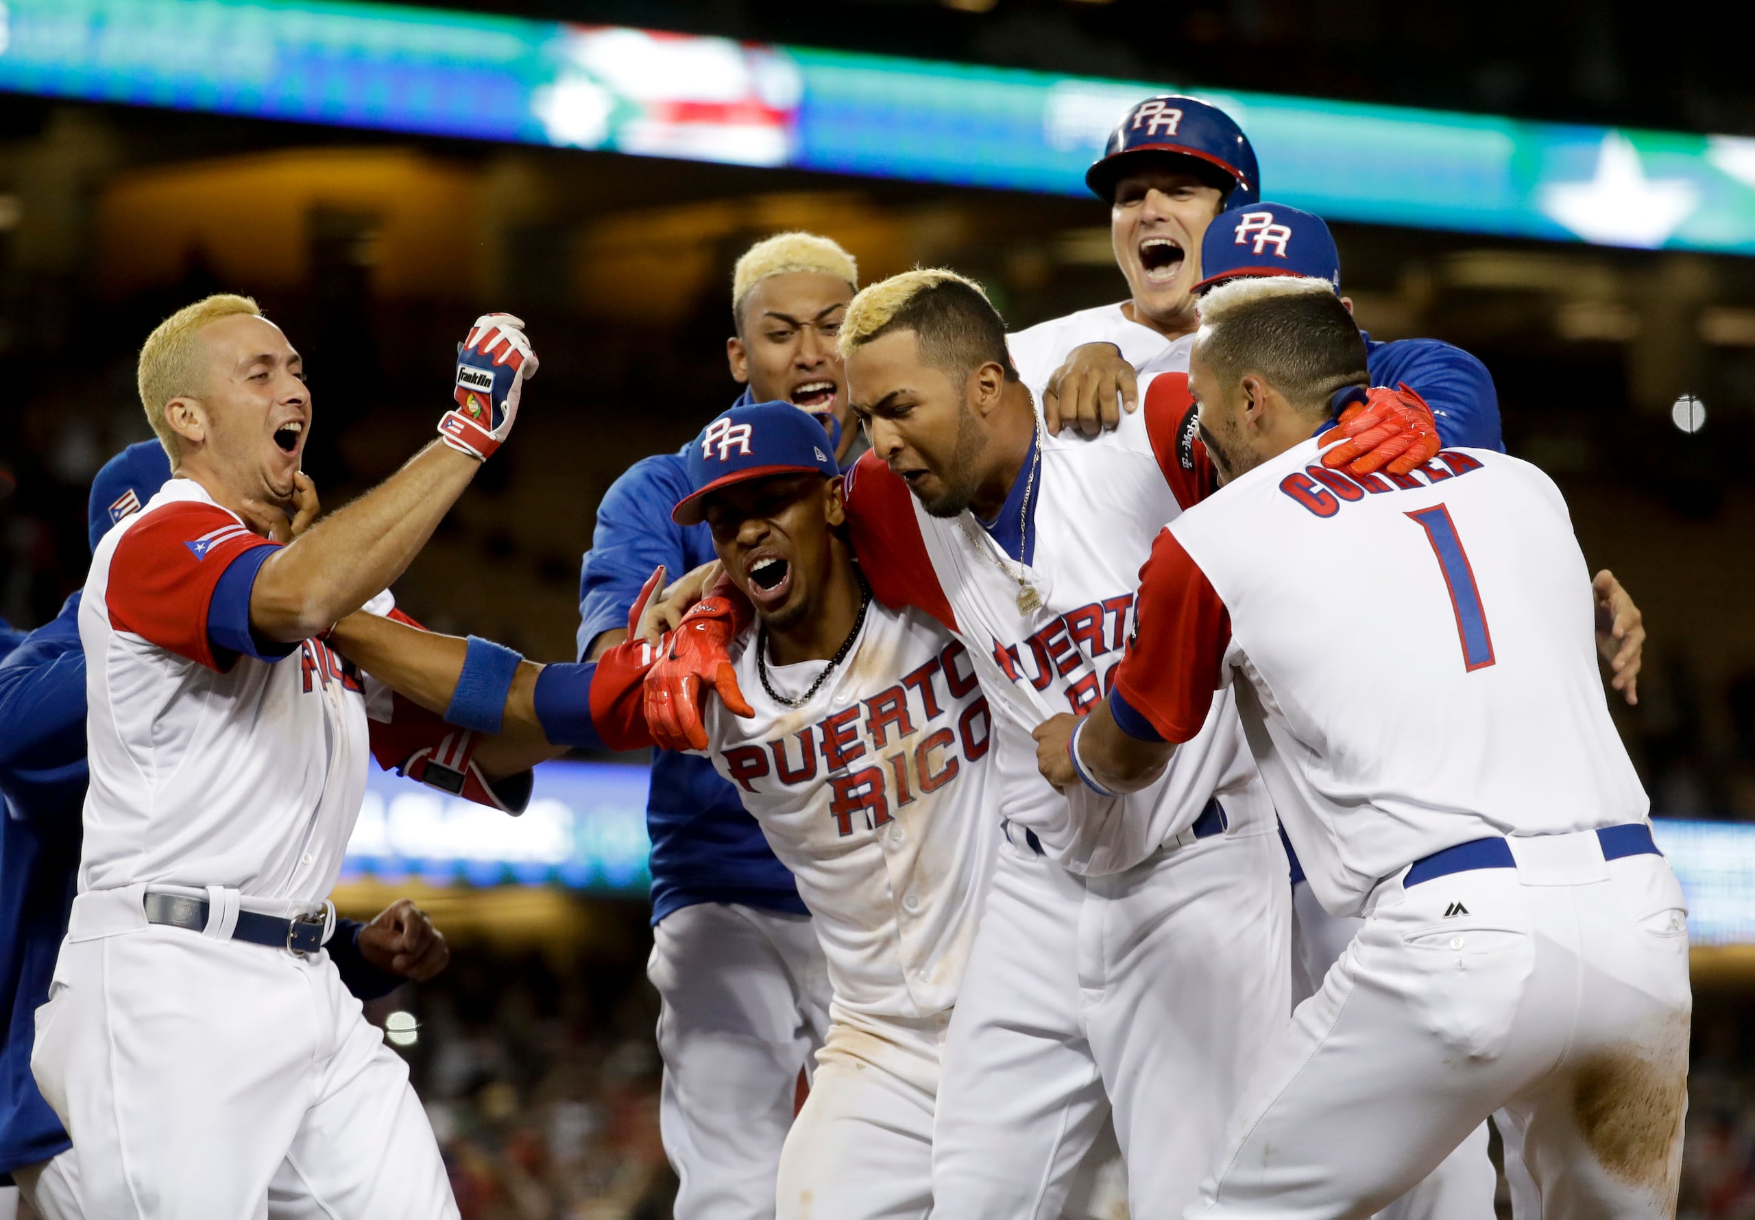
<svg viewBox="0 0 1755 1220">
<path fill-rule="evenodd" d="M 1520 1220 L 1673 1216 L 1688 1087 L 1681 886 L 1592 832 L 1386 881 L 1264 1057 L 1188 1218 L 1353 1220 L 1499 1111 Z"/>
</svg>

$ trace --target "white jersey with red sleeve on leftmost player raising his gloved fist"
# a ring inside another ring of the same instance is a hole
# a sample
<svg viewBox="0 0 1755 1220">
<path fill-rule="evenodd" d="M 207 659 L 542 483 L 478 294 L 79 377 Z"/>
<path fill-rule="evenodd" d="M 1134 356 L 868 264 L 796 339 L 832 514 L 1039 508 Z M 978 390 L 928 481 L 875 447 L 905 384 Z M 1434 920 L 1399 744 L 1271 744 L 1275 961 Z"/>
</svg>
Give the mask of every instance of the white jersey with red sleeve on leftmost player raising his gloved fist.
<svg viewBox="0 0 1755 1220">
<path fill-rule="evenodd" d="M 321 641 L 254 637 L 249 593 L 276 549 L 195 479 L 98 542 L 79 606 L 81 892 L 219 885 L 295 911 L 335 886 L 365 793 L 369 688 L 376 720 L 393 700 Z"/>
</svg>

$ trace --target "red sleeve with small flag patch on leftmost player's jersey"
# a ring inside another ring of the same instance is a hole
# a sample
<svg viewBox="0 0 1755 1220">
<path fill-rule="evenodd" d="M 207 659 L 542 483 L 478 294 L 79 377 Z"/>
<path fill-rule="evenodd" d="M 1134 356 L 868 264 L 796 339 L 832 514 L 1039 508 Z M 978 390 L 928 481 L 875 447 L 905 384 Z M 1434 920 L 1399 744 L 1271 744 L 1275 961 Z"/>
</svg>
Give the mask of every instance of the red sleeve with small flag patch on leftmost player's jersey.
<svg viewBox="0 0 1755 1220">
<path fill-rule="evenodd" d="M 244 588 L 242 607 L 216 607 L 214 592 L 232 563 L 260 567 L 272 553 L 261 548 L 277 546 L 212 504 L 179 500 L 156 507 L 123 535 L 111 556 L 104 592 L 111 627 L 209 669 L 228 669 L 233 657 L 228 649 L 216 651 L 209 623 L 216 609 L 226 621 L 242 613 L 247 634 L 249 590 L 244 581 L 230 583 L 233 590 Z"/>
</svg>

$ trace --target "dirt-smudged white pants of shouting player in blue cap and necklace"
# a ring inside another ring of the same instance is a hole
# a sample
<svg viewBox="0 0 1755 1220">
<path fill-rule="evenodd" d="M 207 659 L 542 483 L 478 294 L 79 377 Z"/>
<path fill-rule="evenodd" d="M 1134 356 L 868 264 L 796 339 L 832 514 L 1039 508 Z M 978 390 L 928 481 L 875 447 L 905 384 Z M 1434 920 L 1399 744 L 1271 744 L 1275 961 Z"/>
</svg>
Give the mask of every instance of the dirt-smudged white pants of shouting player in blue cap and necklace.
<svg viewBox="0 0 1755 1220">
<path fill-rule="evenodd" d="M 811 1097 L 779 1159 L 776 1216 L 923 1220 L 932 1211 L 932 1115 L 951 1015 L 830 1011 Z"/>
</svg>

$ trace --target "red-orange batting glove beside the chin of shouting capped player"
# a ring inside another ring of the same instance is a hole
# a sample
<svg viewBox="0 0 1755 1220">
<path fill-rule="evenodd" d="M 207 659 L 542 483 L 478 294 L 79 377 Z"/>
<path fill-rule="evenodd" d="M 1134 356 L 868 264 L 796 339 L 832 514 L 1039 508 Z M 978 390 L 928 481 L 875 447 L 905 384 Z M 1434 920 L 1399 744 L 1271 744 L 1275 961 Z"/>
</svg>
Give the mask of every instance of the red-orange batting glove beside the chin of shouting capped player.
<svg viewBox="0 0 1755 1220">
<path fill-rule="evenodd" d="M 755 716 L 732 667 L 732 641 L 749 625 L 749 602 L 728 578 L 695 602 L 665 639 L 663 657 L 646 672 L 646 728 L 665 750 L 706 750 L 702 686 L 711 686 L 732 714 Z"/>
</svg>

